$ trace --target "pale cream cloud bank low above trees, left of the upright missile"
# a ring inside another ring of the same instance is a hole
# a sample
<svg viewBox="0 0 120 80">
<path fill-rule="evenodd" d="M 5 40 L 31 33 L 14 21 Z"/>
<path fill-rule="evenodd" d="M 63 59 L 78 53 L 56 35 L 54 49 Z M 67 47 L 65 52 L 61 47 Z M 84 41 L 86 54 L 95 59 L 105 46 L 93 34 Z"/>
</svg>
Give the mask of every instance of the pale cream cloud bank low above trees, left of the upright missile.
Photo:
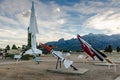
<svg viewBox="0 0 120 80">
<path fill-rule="evenodd" d="M 6 45 L 12 46 L 16 44 L 21 46 L 21 44 L 26 44 L 27 34 L 23 30 L 13 30 L 13 29 L 0 29 L 0 45 L 6 47 Z"/>
</svg>

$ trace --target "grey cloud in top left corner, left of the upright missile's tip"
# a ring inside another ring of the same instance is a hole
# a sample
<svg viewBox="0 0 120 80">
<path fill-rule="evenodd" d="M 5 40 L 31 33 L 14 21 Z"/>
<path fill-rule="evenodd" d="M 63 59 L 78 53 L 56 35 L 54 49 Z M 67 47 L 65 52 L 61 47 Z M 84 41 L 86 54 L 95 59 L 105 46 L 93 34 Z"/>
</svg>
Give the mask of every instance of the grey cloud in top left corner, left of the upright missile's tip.
<svg viewBox="0 0 120 80">
<path fill-rule="evenodd" d="M 0 4 L 1 14 L 9 14 L 10 16 L 14 16 L 14 14 L 29 9 L 30 5 L 30 0 L 4 0 Z"/>
</svg>

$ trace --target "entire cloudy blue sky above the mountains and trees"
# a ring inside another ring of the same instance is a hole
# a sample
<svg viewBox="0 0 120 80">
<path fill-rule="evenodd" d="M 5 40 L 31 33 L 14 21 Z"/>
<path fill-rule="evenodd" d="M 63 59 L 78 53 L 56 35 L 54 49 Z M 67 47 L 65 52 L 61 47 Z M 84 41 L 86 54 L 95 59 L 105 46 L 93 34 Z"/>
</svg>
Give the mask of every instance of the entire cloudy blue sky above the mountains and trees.
<svg viewBox="0 0 120 80">
<path fill-rule="evenodd" d="M 0 0 L 0 47 L 27 44 L 32 1 L 37 42 L 71 39 L 77 34 L 120 34 L 119 0 Z"/>
</svg>

